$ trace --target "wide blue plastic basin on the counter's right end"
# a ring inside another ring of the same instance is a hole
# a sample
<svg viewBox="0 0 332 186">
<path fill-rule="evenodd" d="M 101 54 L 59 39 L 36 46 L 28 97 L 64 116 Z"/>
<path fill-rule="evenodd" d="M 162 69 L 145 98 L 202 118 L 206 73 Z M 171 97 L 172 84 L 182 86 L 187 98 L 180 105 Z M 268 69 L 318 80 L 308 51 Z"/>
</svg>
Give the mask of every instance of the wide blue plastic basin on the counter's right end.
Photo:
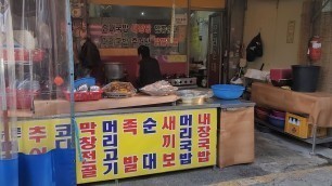
<svg viewBox="0 0 332 186">
<path fill-rule="evenodd" d="M 214 84 L 212 85 L 214 95 L 222 99 L 239 98 L 244 91 L 244 87 L 234 84 Z"/>
</svg>

